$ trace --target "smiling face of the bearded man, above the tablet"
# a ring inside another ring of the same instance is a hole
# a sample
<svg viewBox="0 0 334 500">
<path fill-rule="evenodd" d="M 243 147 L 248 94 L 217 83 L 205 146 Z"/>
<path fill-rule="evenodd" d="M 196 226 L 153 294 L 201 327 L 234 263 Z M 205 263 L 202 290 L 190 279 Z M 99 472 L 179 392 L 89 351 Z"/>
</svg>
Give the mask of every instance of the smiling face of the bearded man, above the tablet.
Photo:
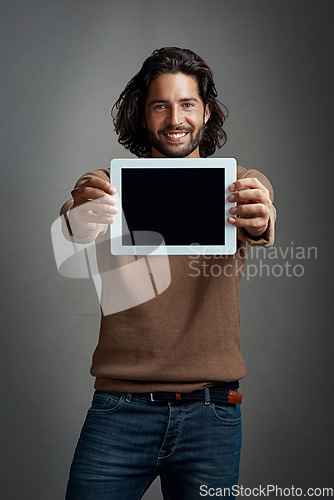
<svg viewBox="0 0 334 500">
<path fill-rule="evenodd" d="M 152 80 L 143 118 L 152 157 L 199 158 L 199 144 L 210 114 L 211 105 L 204 110 L 192 76 L 167 73 Z"/>
</svg>

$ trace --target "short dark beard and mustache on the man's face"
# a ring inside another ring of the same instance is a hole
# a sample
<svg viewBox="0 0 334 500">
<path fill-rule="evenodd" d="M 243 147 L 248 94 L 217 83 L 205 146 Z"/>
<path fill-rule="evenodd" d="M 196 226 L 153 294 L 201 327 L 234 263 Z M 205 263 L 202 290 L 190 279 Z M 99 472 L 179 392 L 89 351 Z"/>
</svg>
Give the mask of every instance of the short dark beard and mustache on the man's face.
<svg viewBox="0 0 334 500">
<path fill-rule="evenodd" d="M 166 141 L 167 139 L 164 138 L 163 134 L 168 133 L 169 130 L 159 130 L 158 131 L 158 138 L 156 138 L 151 131 L 147 131 L 147 137 L 148 141 L 151 146 L 153 146 L 159 153 L 161 153 L 164 156 L 167 156 L 168 158 L 186 158 L 189 156 L 195 149 L 200 145 L 203 136 L 204 136 L 204 126 L 205 124 L 201 126 L 201 128 L 198 130 L 197 134 L 193 134 L 193 129 L 189 128 L 184 128 L 184 127 L 173 127 L 170 129 L 173 131 L 180 131 L 180 132 L 188 132 L 189 139 L 185 144 L 168 144 Z"/>
</svg>

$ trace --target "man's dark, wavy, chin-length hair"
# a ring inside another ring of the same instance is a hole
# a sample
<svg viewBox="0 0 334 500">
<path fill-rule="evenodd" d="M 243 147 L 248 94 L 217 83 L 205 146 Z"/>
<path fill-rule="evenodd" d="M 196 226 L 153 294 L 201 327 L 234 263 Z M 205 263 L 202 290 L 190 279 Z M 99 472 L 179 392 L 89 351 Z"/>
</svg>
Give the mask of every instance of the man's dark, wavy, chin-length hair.
<svg viewBox="0 0 334 500">
<path fill-rule="evenodd" d="M 226 107 L 217 99 L 212 71 L 201 57 L 189 49 L 164 47 L 148 57 L 137 75 L 127 84 L 111 110 L 118 142 L 138 157 L 149 158 L 151 146 L 142 126 L 147 89 L 151 81 L 166 73 L 194 76 L 204 104 L 211 103 L 211 116 L 204 128 L 199 146 L 200 156 L 211 156 L 226 142 L 223 124 L 228 116 Z"/>
</svg>

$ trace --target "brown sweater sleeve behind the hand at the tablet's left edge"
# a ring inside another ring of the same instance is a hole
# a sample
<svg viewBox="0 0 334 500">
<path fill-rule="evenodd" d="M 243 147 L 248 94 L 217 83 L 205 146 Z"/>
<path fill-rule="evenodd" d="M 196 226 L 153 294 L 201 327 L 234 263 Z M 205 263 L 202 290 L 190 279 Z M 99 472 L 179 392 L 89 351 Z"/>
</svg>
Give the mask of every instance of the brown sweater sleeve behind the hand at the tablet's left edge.
<svg viewBox="0 0 334 500">
<path fill-rule="evenodd" d="M 80 187 L 84 182 L 86 182 L 91 177 L 98 177 L 100 179 L 107 180 L 108 182 L 110 182 L 110 171 L 108 169 L 99 169 L 93 172 L 87 172 L 86 174 L 82 175 L 80 179 L 76 182 L 74 189 Z M 103 234 L 107 231 L 108 224 L 98 224 L 96 231 L 94 231 L 94 233 L 90 234 L 86 238 L 78 238 L 77 236 L 73 235 L 68 219 L 69 212 L 72 209 L 73 204 L 74 200 L 73 198 L 71 198 L 67 200 L 60 209 L 62 232 L 67 240 L 74 241 L 75 243 L 90 243 L 94 241 L 99 234 Z"/>
</svg>

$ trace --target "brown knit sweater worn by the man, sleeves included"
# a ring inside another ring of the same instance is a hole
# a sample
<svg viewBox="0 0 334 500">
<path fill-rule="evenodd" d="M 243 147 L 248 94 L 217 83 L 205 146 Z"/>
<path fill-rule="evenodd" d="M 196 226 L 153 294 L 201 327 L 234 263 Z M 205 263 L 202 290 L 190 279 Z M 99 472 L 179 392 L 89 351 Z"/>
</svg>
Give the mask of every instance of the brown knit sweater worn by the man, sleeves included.
<svg viewBox="0 0 334 500">
<path fill-rule="evenodd" d="M 93 175 L 110 179 L 109 170 L 97 170 L 81 177 L 76 187 Z M 257 177 L 273 199 L 271 184 L 263 174 L 238 167 L 238 178 L 244 177 Z M 65 219 L 72 205 L 73 200 L 69 200 L 61 208 Z M 171 284 L 163 293 L 125 311 L 102 314 L 91 368 L 95 388 L 190 392 L 243 378 L 246 368 L 240 350 L 238 284 L 246 263 L 247 244 L 272 245 L 275 218 L 273 207 L 269 227 L 258 240 L 239 230 L 234 256 L 199 256 L 193 264 L 189 256 L 168 256 Z M 70 238 L 66 224 L 63 232 Z M 82 240 L 87 243 L 95 239 L 100 269 L 105 271 L 137 259 L 112 256 L 108 232 L 107 226 L 100 225 L 96 234 Z M 103 283 L 103 273 L 101 276 Z"/>
</svg>

